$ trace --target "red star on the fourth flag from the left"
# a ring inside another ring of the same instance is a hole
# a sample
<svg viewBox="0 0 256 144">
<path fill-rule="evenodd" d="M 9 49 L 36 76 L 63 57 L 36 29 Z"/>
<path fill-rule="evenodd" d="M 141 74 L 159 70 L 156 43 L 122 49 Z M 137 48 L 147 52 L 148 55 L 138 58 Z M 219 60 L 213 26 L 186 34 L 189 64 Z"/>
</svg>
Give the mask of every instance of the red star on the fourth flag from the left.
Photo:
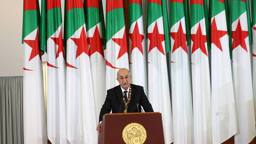
<svg viewBox="0 0 256 144">
<path fill-rule="evenodd" d="M 96 26 L 93 37 L 88 37 L 89 48 L 89 56 L 94 54 L 95 52 L 100 53 L 104 58 L 103 52 L 103 39 L 100 38 L 100 32 L 98 26 Z"/>
</svg>

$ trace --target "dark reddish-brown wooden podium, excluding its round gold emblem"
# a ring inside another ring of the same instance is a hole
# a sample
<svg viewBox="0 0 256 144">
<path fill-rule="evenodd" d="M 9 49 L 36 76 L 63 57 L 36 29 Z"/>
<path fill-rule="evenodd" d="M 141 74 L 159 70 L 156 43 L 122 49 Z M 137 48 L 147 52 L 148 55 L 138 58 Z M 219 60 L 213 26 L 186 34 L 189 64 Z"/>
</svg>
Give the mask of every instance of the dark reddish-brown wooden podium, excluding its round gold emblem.
<svg viewBox="0 0 256 144">
<path fill-rule="evenodd" d="M 125 144 L 122 132 L 130 123 L 141 124 L 146 129 L 147 138 L 144 144 L 164 144 L 162 114 L 159 112 L 104 115 L 98 144 Z"/>
</svg>

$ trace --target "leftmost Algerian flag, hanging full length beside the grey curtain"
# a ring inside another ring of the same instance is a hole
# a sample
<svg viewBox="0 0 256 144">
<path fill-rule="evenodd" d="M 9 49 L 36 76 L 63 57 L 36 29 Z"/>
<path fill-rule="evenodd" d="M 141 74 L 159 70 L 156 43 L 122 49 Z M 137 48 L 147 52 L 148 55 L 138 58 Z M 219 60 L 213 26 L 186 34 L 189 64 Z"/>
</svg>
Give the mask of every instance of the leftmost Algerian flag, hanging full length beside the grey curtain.
<svg viewBox="0 0 256 144">
<path fill-rule="evenodd" d="M 24 144 L 47 143 L 39 23 L 38 0 L 24 0 L 22 26 Z"/>
</svg>

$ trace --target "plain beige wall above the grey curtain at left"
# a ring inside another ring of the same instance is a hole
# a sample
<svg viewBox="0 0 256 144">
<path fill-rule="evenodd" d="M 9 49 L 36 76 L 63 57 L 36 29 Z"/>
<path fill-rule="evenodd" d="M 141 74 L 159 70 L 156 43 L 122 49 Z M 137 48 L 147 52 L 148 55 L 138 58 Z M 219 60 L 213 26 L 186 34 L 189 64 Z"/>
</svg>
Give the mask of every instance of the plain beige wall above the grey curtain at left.
<svg viewBox="0 0 256 144">
<path fill-rule="evenodd" d="M 23 75 L 22 0 L 0 0 L 0 76 Z"/>
</svg>

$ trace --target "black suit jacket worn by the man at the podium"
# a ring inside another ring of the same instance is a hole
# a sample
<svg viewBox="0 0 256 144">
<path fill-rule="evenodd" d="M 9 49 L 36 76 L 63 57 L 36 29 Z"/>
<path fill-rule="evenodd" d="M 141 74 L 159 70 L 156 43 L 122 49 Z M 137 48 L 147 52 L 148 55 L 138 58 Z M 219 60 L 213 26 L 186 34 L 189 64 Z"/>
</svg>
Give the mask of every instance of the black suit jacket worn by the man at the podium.
<svg viewBox="0 0 256 144">
<path fill-rule="evenodd" d="M 131 86 L 132 94 L 131 100 L 127 105 L 127 112 L 138 112 L 137 103 L 143 107 L 145 112 L 154 112 L 148 98 L 145 95 L 143 87 L 135 84 L 131 84 Z M 141 112 L 140 106 L 139 112 Z M 103 116 L 110 113 L 111 110 L 112 113 L 119 113 L 119 111 L 120 113 L 124 113 L 123 93 L 120 85 L 107 90 L 106 100 L 100 110 L 99 122 L 102 121 Z"/>
</svg>

